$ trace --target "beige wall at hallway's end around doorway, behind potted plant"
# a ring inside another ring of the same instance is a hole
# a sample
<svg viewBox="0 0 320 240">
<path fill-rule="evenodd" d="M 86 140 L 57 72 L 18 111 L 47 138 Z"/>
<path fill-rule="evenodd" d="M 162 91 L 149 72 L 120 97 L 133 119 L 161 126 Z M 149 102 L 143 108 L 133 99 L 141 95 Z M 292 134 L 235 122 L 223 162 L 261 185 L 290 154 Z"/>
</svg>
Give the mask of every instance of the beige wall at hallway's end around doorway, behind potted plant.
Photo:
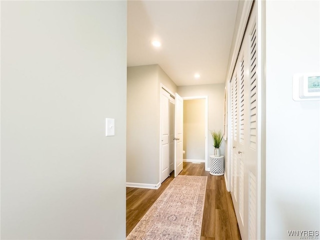
<svg viewBox="0 0 320 240">
<path fill-rule="evenodd" d="M 224 84 L 206 84 L 193 86 L 178 86 L 177 93 L 184 96 L 208 96 L 208 130 L 223 131 L 223 101 Z M 213 140 L 208 132 L 208 155 L 213 154 Z M 224 140 L 220 146 L 221 154 L 224 154 Z M 208 167 L 209 157 L 206 156 Z"/>
</svg>

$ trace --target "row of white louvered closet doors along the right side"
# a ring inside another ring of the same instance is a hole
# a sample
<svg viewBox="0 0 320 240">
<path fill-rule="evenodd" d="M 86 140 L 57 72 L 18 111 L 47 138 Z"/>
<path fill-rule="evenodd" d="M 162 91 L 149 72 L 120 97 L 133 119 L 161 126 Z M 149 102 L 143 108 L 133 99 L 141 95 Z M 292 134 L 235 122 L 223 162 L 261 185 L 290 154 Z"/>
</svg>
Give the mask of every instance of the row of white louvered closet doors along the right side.
<svg viewBox="0 0 320 240">
<path fill-rule="evenodd" d="M 256 6 L 231 78 L 230 190 L 242 239 L 257 239 L 257 37 Z"/>
</svg>

